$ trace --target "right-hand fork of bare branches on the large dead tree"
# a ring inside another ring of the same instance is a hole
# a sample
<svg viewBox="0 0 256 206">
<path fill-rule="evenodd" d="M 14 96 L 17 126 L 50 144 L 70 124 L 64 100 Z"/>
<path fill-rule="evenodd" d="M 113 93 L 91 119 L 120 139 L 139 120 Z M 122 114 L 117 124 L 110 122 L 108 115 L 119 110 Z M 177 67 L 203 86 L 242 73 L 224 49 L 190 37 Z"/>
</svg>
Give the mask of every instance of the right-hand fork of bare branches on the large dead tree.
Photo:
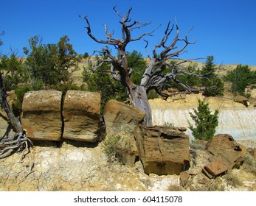
<svg viewBox="0 0 256 206">
<path fill-rule="evenodd" d="M 174 31 L 174 28 L 176 28 L 176 35 L 174 36 L 173 40 L 171 40 L 170 44 L 167 45 L 168 38 L 170 37 L 170 34 Z M 205 78 L 205 75 L 200 76 L 198 74 L 193 74 L 191 72 L 188 72 L 184 67 L 181 67 L 182 64 L 192 61 L 182 60 L 181 58 L 179 58 L 181 54 L 186 52 L 185 49 L 188 45 L 195 43 L 195 41 L 190 42 L 187 38 L 187 35 L 189 35 L 192 29 L 187 32 L 184 38 L 179 38 L 178 24 L 176 23 L 175 26 L 174 24 L 171 26 L 170 21 L 168 22 L 162 40 L 159 44 L 156 44 L 153 47 L 153 58 L 151 58 L 151 62 L 148 64 L 148 68 L 145 70 L 145 73 L 141 80 L 141 85 L 143 85 L 145 88 L 161 88 L 165 82 L 171 79 L 173 80 L 173 82 L 176 82 L 183 88 L 192 91 L 194 90 L 193 88 L 189 88 L 187 85 L 182 84 L 182 82 L 179 82 L 176 77 L 180 74 L 187 74 L 193 77 Z M 181 46 L 180 49 L 177 46 L 178 42 L 184 43 L 184 45 Z M 162 49 L 159 56 L 156 49 Z M 193 60 L 198 60 L 198 58 Z M 170 71 L 167 74 L 163 75 L 162 72 L 166 71 L 167 68 L 169 68 Z M 156 92 L 160 94 L 159 90 Z"/>
</svg>

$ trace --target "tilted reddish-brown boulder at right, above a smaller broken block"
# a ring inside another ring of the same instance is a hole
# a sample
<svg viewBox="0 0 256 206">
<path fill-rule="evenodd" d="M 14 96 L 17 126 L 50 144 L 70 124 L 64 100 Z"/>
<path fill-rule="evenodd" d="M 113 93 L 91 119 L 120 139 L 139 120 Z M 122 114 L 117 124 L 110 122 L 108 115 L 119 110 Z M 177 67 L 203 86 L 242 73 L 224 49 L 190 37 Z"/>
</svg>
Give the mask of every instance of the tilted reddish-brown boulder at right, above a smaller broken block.
<svg viewBox="0 0 256 206">
<path fill-rule="evenodd" d="M 222 160 L 229 170 L 239 168 L 243 163 L 246 147 L 235 142 L 231 135 L 215 135 L 208 143 L 207 150 L 213 155 L 212 159 Z"/>
</svg>

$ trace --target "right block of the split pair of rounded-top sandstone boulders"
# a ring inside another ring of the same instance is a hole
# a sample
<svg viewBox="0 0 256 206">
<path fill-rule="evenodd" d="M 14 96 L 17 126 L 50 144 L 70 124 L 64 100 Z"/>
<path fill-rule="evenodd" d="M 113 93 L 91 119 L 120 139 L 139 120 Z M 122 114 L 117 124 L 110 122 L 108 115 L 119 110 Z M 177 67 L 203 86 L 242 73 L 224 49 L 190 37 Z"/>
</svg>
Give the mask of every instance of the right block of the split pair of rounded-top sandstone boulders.
<svg viewBox="0 0 256 206">
<path fill-rule="evenodd" d="M 100 132 L 100 93 L 68 90 L 63 103 L 63 120 L 63 138 L 96 142 Z"/>
</svg>

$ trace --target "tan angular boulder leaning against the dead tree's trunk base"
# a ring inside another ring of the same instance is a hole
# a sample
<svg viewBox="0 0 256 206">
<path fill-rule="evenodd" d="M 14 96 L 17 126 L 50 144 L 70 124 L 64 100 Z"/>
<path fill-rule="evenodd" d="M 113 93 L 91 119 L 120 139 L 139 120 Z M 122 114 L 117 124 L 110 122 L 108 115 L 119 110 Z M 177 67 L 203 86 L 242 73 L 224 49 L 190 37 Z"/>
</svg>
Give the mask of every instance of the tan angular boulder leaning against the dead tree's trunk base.
<svg viewBox="0 0 256 206">
<path fill-rule="evenodd" d="M 116 100 L 110 100 L 104 110 L 105 127 L 107 132 L 122 129 L 133 131 L 144 116 L 145 113 L 142 110 Z"/>
</svg>

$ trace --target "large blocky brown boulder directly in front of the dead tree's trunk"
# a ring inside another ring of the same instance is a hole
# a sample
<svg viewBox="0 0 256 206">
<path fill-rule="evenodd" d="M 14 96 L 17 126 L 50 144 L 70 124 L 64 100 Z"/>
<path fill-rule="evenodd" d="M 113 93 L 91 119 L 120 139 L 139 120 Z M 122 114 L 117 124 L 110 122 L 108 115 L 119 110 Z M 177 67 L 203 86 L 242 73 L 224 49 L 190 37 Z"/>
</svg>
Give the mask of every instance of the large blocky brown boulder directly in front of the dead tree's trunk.
<svg viewBox="0 0 256 206">
<path fill-rule="evenodd" d="M 139 124 L 134 136 L 146 174 L 180 174 L 189 167 L 189 138 L 178 128 Z"/>
</svg>

